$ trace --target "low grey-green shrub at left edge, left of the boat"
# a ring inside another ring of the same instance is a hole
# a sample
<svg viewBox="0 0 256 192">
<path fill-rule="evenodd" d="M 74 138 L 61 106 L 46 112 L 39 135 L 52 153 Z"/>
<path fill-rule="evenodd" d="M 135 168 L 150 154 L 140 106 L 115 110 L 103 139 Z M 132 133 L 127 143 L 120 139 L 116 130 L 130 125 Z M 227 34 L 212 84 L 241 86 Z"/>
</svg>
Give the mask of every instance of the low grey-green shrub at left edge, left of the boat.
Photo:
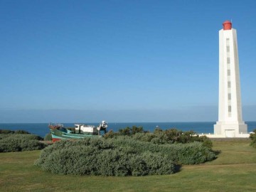
<svg viewBox="0 0 256 192">
<path fill-rule="evenodd" d="M 41 137 L 34 134 L 0 134 L 0 152 L 31 151 L 43 149 Z"/>
</svg>

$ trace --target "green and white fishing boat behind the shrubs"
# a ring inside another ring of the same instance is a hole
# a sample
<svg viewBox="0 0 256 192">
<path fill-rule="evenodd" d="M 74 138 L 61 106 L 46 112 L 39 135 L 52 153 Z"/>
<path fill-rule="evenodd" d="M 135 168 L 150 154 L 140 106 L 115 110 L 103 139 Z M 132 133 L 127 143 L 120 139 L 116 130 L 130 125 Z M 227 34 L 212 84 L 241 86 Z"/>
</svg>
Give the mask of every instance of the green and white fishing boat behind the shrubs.
<svg viewBox="0 0 256 192">
<path fill-rule="evenodd" d="M 87 124 L 75 124 L 75 129 L 67 129 L 63 124 L 48 125 L 53 142 L 60 139 L 82 139 L 86 137 L 102 137 L 107 132 L 107 122 L 102 121 L 98 127 Z"/>
</svg>

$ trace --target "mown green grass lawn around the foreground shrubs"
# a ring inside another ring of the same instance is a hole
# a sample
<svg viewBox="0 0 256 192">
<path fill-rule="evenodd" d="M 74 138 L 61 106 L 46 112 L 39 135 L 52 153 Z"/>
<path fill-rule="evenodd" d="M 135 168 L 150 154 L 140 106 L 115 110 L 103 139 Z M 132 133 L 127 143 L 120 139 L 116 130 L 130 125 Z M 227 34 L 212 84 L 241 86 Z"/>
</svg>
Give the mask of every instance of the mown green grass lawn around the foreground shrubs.
<svg viewBox="0 0 256 192">
<path fill-rule="evenodd" d="M 59 176 L 33 162 L 40 151 L 0 154 L 0 191 L 256 191 L 256 149 L 249 139 L 213 141 L 218 159 L 168 176 Z"/>
</svg>

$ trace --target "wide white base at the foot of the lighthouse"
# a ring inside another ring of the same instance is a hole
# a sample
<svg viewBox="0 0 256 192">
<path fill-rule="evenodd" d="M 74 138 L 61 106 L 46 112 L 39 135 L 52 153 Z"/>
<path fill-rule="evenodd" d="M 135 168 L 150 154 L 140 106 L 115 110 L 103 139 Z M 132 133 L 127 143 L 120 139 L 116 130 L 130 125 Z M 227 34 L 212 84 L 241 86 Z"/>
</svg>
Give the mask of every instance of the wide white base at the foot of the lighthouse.
<svg viewBox="0 0 256 192">
<path fill-rule="evenodd" d="M 240 137 L 241 134 L 247 134 L 247 124 L 217 122 L 214 125 L 214 134 L 222 137 Z"/>
</svg>

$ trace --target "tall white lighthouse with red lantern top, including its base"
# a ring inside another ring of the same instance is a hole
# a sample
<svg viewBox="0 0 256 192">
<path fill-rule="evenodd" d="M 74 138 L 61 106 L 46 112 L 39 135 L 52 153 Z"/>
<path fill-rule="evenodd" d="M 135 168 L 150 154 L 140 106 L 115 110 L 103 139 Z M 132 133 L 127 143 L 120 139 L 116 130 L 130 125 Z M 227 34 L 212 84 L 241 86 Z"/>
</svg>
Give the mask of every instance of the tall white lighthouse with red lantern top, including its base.
<svg viewBox="0 0 256 192">
<path fill-rule="evenodd" d="M 242 137 L 247 124 L 242 121 L 237 33 L 230 21 L 219 31 L 219 106 L 214 134 Z"/>
</svg>

